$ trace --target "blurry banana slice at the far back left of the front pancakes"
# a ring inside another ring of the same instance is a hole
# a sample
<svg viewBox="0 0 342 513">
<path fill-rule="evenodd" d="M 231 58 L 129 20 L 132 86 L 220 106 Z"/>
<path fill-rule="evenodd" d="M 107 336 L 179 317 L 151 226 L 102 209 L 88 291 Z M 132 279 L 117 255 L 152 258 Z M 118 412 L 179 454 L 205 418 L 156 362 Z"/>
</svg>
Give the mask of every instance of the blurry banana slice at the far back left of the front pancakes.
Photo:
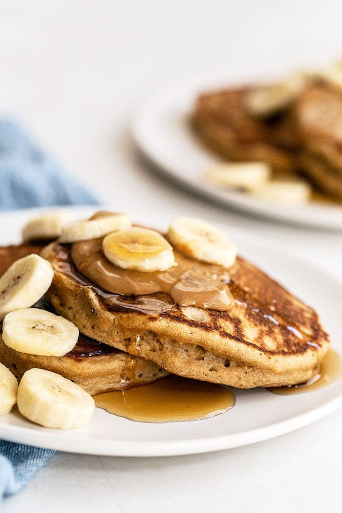
<svg viewBox="0 0 342 513">
<path fill-rule="evenodd" d="M 67 212 L 46 212 L 38 218 L 31 219 L 23 228 L 23 240 L 37 241 L 57 239 L 62 232 L 62 226 L 70 222 Z"/>
</svg>

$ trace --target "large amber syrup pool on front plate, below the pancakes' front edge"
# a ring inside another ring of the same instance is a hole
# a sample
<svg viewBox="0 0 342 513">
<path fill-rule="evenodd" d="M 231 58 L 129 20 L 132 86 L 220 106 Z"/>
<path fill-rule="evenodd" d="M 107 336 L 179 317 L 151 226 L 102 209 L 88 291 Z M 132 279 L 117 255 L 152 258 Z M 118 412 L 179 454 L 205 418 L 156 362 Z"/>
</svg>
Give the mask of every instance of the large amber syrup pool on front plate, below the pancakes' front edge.
<svg viewBox="0 0 342 513">
<path fill-rule="evenodd" d="M 176 422 L 208 419 L 235 404 L 229 388 L 204 381 L 167 376 L 150 385 L 100 393 L 95 405 L 136 422 Z"/>
</svg>

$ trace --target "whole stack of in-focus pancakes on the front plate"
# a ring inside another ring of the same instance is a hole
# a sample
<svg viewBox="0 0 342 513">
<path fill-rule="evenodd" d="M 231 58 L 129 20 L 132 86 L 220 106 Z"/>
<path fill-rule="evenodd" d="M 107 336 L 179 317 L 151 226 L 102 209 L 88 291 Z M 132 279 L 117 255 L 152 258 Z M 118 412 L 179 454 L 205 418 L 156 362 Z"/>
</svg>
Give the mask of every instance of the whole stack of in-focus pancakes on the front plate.
<svg viewBox="0 0 342 513">
<path fill-rule="evenodd" d="M 20 353 L 0 339 L 0 361 L 18 378 L 44 368 L 95 394 L 168 372 L 238 388 L 293 385 L 318 373 L 329 337 L 316 312 L 243 258 L 229 269 L 234 304 L 219 311 L 179 306 L 166 292 L 108 292 L 76 267 L 73 246 L 57 240 L 43 249 L 29 243 L 1 250 L 1 272 L 31 252 L 50 261 L 54 279 L 40 306 L 82 333 L 63 357 Z"/>
</svg>

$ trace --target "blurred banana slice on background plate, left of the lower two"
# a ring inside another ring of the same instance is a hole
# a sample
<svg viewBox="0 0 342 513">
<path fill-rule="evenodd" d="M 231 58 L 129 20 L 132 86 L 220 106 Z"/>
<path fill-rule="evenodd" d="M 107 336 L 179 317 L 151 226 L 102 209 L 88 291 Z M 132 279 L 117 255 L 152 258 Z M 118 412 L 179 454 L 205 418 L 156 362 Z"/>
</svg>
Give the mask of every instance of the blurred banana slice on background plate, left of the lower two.
<svg viewBox="0 0 342 513">
<path fill-rule="evenodd" d="M 253 190 L 265 183 L 271 175 L 266 162 L 223 162 L 211 166 L 206 177 L 211 182 L 241 189 Z"/>
</svg>

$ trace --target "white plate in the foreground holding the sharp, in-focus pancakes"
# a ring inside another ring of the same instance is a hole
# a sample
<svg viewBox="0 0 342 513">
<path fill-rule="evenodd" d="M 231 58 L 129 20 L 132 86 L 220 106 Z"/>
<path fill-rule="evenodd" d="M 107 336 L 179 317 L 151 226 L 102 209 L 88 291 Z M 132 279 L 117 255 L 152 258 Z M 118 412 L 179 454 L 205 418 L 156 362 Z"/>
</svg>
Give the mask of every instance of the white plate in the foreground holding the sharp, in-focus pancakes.
<svg viewBox="0 0 342 513">
<path fill-rule="evenodd" d="M 93 212 L 75 209 L 79 216 Z M 0 217 L 1 244 L 14 242 L 32 211 Z M 141 222 L 151 223 L 145 217 Z M 166 228 L 160 226 L 161 229 Z M 342 352 L 342 284 L 319 268 L 275 251 L 265 240 L 253 242 L 250 233 L 223 227 L 240 253 L 260 265 L 300 298 L 312 304 Z M 0 438 L 53 449 L 109 456 L 168 456 L 207 452 L 266 440 L 305 426 L 342 406 L 342 380 L 313 392 L 276 396 L 264 389 L 235 390 L 235 407 L 212 419 L 169 424 L 137 423 L 95 409 L 91 423 L 59 431 L 36 426 L 16 411 L 0 417 Z"/>
</svg>

